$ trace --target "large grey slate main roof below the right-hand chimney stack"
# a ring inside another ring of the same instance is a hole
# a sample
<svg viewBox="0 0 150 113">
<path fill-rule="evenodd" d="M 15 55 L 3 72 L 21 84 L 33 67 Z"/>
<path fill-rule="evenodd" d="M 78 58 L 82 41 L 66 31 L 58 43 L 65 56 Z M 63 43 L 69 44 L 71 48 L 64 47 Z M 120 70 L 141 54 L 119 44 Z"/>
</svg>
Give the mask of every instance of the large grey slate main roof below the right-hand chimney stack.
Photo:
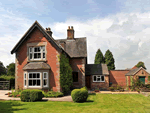
<svg viewBox="0 0 150 113">
<path fill-rule="evenodd" d="M 64 50 L 70 57 L 87 57 L 86 37 L 74 38 L 72 40 L 59 39 L 57 44 L 64 43 Z"/>
</svg>

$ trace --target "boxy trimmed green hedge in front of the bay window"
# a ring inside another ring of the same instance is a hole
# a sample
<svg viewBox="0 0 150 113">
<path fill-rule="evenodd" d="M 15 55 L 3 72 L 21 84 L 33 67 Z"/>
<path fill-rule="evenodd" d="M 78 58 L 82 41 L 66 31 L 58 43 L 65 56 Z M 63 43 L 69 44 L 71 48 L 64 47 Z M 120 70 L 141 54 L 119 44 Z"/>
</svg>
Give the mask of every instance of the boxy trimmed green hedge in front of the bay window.
<svg viewBox="0 0 150 113">
<path fill-rule="evenodd" d="M 26 89 L 23 90 L 20 96 L 21 101 L 23 102 L 34 102 L 37 100 L 42 100 L 43 93 L 41 90 L 36 89 Z"/>
</svg>

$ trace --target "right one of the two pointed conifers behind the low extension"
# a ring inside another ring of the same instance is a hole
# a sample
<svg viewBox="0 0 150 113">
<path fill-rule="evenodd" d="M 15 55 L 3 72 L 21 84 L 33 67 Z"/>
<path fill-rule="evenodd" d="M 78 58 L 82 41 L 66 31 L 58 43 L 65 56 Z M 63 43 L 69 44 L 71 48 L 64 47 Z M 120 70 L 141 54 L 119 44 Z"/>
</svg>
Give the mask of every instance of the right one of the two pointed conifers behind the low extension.
<svg viewBox="0 0 150 113">
<path fill-rule="evenodd" d="M 105 53 L 105 64 L 107 64 L 108 70 L 115 69 L 115 60 L 109 49 Z"/>
</svg>

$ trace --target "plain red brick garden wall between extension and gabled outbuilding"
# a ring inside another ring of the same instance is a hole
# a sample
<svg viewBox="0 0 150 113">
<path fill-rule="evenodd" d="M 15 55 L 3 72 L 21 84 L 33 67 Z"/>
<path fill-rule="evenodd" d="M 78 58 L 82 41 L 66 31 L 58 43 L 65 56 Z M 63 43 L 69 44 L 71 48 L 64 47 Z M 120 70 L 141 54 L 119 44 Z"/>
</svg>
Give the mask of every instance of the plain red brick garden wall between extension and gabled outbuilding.
<svg viewBox="0 0 150 113">
<path fill-rule="evenodd" d="M 110 70 L 109 71 L 110 82 L 112 84 L 126 86 L 125 74 L 128 72 L 129 72 L 129 70 Z"/>
</svg>

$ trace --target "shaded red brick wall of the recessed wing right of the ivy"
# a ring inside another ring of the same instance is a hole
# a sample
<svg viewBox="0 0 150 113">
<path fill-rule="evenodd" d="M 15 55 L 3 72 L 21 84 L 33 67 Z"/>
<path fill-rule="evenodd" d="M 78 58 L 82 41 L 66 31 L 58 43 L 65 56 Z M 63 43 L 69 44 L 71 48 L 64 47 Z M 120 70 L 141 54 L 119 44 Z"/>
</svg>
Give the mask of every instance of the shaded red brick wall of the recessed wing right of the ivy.
<svg viewBox="0 0 150 113">
<path fill-rule="evenodd" d="M 78 72 L 78 83 L 73 83 L 74 87 L 83 87 L 85 81 L 83 81 L 83 77 L 84 77 L 84 73 L 82 72 L 82 70 L 80 68 L 84 68 L 84 58 L 74 58 L 74 59 L 70 59 L 70 65 L 72 67 L 73 71 Z M 84 70 L 84 69 L 83 69 Z"/>
</svg>

